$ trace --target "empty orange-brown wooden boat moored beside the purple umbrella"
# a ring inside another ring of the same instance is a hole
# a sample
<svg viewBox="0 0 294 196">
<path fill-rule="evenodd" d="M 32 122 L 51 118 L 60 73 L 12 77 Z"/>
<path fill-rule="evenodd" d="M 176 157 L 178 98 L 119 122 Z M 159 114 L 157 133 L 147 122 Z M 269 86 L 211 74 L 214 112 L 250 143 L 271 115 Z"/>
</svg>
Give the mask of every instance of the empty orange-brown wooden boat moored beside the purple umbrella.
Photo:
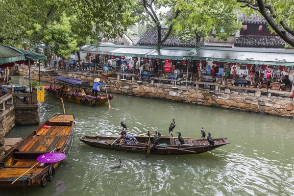
<svg viewBox="0 0 294 196">
<path fill-rule="evenodd" d="M 49 128 L 45 128 L 44 125 Z M 46 187 L 48 181 L 53 180 L 59 162 L 39 163 L 37 157 L 53 150 L 65 153 L 73 136 L 73 128 L 74 116 L 61 114 L 56 114 L 36 128 L 0 160 L 0 187 L 38 184 Z M 25 173 L 32 166 L 35 167 Z M 19 176 L 22 177 L 11 184 Z"/>
</svg>

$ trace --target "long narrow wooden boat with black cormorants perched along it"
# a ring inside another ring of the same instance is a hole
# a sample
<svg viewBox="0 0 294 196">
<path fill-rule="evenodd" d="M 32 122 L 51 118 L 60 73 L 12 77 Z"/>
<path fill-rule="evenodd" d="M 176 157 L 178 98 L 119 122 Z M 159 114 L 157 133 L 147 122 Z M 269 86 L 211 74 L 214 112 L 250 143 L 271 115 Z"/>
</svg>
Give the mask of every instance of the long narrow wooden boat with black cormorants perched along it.
<svg viewBox="0 0 294 196">
<path fill-rule="evenodd" d="M 147 141 L 148 136 L 136 136 L 139 143 L 138 145 L 119 145 L 115 142 L 120 136 L 105 136 L 105 135 L 85 135 L 80 138 L 80 141 L 91 146 L 112 150 L 120 150 L 126 152 L 136 152 L 136 153 L 147 153 Z M 151 150 L 151 154 L 162 154 L 162 155 L 172 155 L 172 154 L 200 154 L 213 150 L 215 148 L 221 147 L 226 144 L 230 144 L 227 138 L 217 138 L 215 140 L 215 145 L 212 147 L 209 145 L 207 140 L 202 139 L 184 139 L 185 144 L 180 145 L 177 138 L 172 137 L 161 137 L 160 145 L 156 145 L 154 150 Z M 152 138 L 150 140 L 151 146 Z M 172 148 L 168 148 L 172 147 Z"/>
</svg>

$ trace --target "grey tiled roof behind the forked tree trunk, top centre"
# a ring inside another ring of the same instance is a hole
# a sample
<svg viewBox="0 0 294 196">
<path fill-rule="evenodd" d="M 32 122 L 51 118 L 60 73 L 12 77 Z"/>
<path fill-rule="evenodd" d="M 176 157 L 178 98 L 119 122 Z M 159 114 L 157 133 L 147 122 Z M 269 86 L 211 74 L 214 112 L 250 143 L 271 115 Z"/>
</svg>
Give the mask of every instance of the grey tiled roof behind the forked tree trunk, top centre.
<svg viewBox="0 0 294 196">
<path fill-rule="evenodd" d="M 164 38 L 166 28 L 161 29 L 162 37 Z M 147 30 L 143 36 L 138 41 L 138 45 L 143 46 L 156 46 L 157 45 L 158 34 L 157 31 Z M 196 47 L 196 40 L 193 40 L 189 43 L 181 43 L 178 37 L 169 37 L 167 41 L 165 41 L 162 46 L 172 46 L 172 47 Z M 201 40 L 201 46 L 204 45 L 204 39 Z"/>
</svg>

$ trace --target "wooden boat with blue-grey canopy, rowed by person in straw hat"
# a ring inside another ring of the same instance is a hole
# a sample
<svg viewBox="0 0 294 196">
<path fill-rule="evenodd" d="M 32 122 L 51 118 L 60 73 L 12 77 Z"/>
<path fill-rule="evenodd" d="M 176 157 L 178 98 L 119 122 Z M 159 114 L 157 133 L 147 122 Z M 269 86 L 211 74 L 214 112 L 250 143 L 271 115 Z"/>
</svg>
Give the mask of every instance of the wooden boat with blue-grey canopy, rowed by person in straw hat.
<svg viewBox="0 0 294 196">
<path fill-rule="evenodd" d="M 67 85 L 72 85 L 74 90 L 77 90 L 78 85 L 80 85 L 83 82 L 87 82 L 80 79 L 70 78 L 70 77 L 64 77 L 64 76 L 53 76 L 54 78 L 54 84 L 55 82 L 64 84 L 64 87 Z M 102 105 L 107 102 L 107 96 L 106 95 L 98 95 L 97 97 L 91 96 L 90 90 L 83 88 L 87 95 L 81 95 L 78 93 L 69 94 L 67 92 L 67 89 L 58 87 L 55 85 L 50 84 L 49 86 L 45 86 L 45 90 L 48 94 L 56 97 L 61 97 L 64 100 L 72 101 L 74 103 L 79 103 L 83 105 Z M 113 95 L 108 95 L 109 100 L 113 98 Z"/>
</svg>

